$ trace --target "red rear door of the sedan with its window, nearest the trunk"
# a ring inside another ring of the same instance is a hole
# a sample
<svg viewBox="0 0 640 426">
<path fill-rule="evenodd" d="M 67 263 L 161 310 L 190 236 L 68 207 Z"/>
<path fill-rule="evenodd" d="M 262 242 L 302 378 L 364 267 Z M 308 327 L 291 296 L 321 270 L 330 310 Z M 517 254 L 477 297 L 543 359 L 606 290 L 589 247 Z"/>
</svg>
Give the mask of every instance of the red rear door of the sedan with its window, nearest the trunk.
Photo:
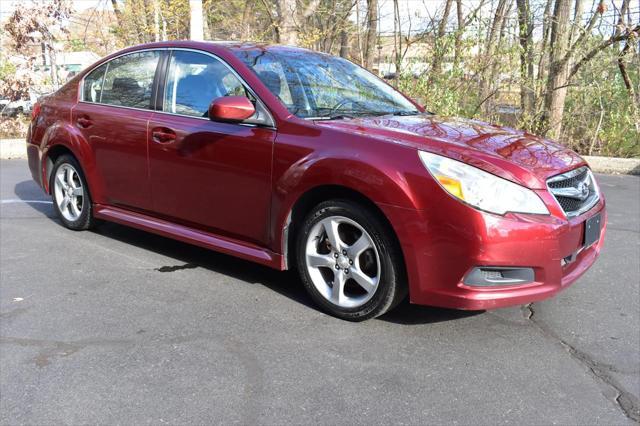
<svg viewBox="0 0 640 426">
<path fill-rule="evenodd" d="M 84 78 L 81 101 L 73 109 L 72 122 L 95 154 L 108 204 L 152 209 L 147 122 L 160 55 L 134 52 L 96 68 Z"/>
</svg>

